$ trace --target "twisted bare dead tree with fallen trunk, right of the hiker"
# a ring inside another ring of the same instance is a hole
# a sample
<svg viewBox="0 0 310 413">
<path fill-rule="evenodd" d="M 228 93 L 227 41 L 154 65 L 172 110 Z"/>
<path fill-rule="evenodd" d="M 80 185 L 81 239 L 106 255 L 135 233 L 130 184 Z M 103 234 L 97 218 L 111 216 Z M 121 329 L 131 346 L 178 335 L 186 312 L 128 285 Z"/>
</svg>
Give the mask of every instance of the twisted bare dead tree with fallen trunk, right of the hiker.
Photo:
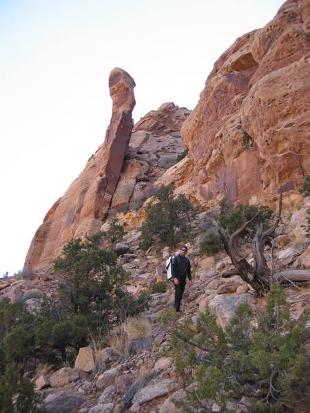
<svg viewBox="0 0 310 413">
<path fill-rule="evenodd" d="M 266 258 L 264 255 L 264 246 L 269 238 L 269 235 L 275 231 L 277 228 L 282 212 L 282 192 L 280 193 L 278 213 L 276 218 L 269 229 L 263 230 L 262 223 L 258 224 L 258 229 L 254 236 L 252 242 L 252 254 L 253 254 L 253 265 L 249 264 L 247 261 L 247 256 L 241 253 L 238 247 L 238 241 L 241 235 L 245 231 L 249 231 L 248 226 L 255 220 L 260 211 L 258 211 L 253 218 L 249 221 L 245 221 L 245 214 L 240 205 L 240 211 L 243 219 L 243 223 L 237 231 L 235 231 L 229 241 L 227 241 L 225 235 L 220 232 L 220 238 L 224 244 L 225 251 L 229 255 L 231 262 L 234 264 L 234 269 L 227 271 L 223 274 L 223 277 L 230 277 L 231 275 L 240 275 L 240 277 L 250 284 L 258 295 L 267 293 L 270 285 L 273 282 L 291 282 L 291 281 L 309 281 L 310 280 L 310 270 L 299 270 L 299 271 L 282 271 L 280 273 L 271 273 L 271 270 L 267 266 Z"/>
</svg>

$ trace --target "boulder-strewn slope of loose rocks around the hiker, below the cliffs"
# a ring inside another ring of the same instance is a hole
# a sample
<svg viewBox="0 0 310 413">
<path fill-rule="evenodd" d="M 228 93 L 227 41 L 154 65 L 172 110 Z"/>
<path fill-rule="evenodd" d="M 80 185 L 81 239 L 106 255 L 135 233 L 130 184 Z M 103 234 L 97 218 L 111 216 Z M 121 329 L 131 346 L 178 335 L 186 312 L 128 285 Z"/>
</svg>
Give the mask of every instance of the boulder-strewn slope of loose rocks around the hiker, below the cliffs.
<svg viewBox="0 0 310 413">
<path fill-rule="evenodd" d="M 309 237 L 304 228 L 310 199 L 304 198 L 299 211 L 285 218 L 278 229 L 275 243 L 278 250 L 276 270 L 304 269 L 310 272 Z M 210 211 L 199 213 L 192 222 L 195 231 L 201 231 L 206 222 L 214 225 Z M 130 272 L 130 280 L 125 288 L 138 296 L 142 291 L 150 291 L 154 283 L 165 280 L 165 259 L 172 255 L 174 248 L 153 246 L 147 253 L 138 246 L 141 233 L 132 229 L 121 244 L 116 244 L 118 263 Z M 268 250 L 269 251 L 269 250 Z M 268 253 L 268 252 L 267 252 Z M 189 244 L 189 259 L 192 262 L 194 284 L 185 290 L 181 315 L 176 321 L 180 325 L 189 319 L 196 331 L 198 313 L 209 307 L 220 326 L 234 315 L 240 302 L 247 301 L 258 315 L 265 306 L 265 298 L 256 297 L 249 284 L 238 276 L 223 278 L 231 268 L 229 257 L 218 253 L 206 257 L 198 244 Z M 28 271 L 22 277 L 7 277 L 0 282 L 1 299 L 11 302 L 23 301 L 32 311 L 42 297 L 56 299 L 59 280 L 50 273 L 38 276 Z M 299 319 L 310 309 L 308 286 L 289 285 L 285 288 L 291 315 Z M 121 336 L 108 340 L 108 346 L 97 348 L 96 343 L 81 348 L 74 366 L 65 366 L 54 371 L 48 366 L 38 366 L 33 378 L 37 392 L 45 392 L 45 408 L 48 413 L 181 413 L 172 399 L 187 401 L 187 392 L 192 389 L 176 373 L 176 359 L 172 357 L 172 339 L 169 328 L 158 321 L 161 313 L 172 308 L 174 291 L 169 283 L 166 293 L 152 295 L 149 310 L 142 314 L 143 335 L 139 337 Z M 116 332 L 119 330 L 115 330 Z M 113 337 L 113 334 L 112 334 Z M 119 338 L 119 337 L 118 337 Z M 245 406 L 232 403 L 229 408 L 236 412 L 251 412 Z M 309 405 L 298 405 L 299 413 L 306 413 Z M 210 412 L 219 412 L 214 403 Z"/>
</svg>

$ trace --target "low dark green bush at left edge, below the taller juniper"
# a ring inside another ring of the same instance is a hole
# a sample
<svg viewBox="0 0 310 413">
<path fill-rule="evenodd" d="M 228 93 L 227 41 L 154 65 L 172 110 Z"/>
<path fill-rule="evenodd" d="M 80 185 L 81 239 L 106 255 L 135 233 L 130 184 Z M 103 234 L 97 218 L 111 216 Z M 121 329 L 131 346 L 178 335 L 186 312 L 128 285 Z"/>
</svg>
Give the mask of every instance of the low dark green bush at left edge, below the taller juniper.
<svg viewBox="0 0 310 413">
<path fill-rule="evenodd" d="M 94 318 L 94 317 L 93 317 Z M 94 319 L 72 315 L 46 301 L 37 314 L 25 304 L 0 302 L 0 373 L 8 363 L 17 363 L 21 374 L 31 373 L 37 361 L 59 365 L 72 362 L 80 347 L 87 344 Z M 67 349 L 75 352 L 67 354 Z"/>
</svg>

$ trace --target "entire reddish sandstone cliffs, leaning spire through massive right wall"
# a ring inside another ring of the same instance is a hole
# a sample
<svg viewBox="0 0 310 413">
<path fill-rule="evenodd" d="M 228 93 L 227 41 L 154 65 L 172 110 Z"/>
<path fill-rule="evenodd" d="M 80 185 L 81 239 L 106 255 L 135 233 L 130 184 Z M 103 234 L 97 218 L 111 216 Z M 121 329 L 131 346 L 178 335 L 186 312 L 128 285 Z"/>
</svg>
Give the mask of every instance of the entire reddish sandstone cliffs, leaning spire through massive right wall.
<svg viewBox="0 0 310 413">
<path fill-rule="evenodd" d="M 203 207 L 224 197 L 272 205 L 281 187 L 284 209 L 293 210 L 310 173 L 309 9 L 308 0 L 289 0 L 264 28 L 237 39 L 192 114 L 165 103 L 132 130 L 134 81 L 112 71 L 105 143 L 48 211 L 25 269 L 48 266 L 72 237 L 99 231 L 109 213 L 132 211 L 124 223 L 133 228 L 160 184 L 173 183 Z M 188 156 L 176 164 L 183 145 Z"/>
</svg>

